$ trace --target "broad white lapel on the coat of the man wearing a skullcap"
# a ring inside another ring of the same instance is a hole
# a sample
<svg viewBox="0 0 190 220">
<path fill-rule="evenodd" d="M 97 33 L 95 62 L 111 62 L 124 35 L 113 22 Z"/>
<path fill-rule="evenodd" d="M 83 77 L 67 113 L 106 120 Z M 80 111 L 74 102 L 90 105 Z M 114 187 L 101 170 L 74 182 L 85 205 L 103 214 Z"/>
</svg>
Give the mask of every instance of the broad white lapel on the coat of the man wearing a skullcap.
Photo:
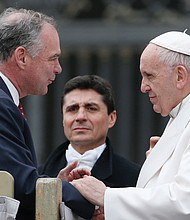
<svg viewBox="0 0 190 220">
<path fill-rule="evenodd" d="M 180 136 L 190 122 L 189 108 L 190 100 L 184 104 L 177 117 L 168 122 L 163 135 L 142 166 L 137 187 L 145 187 L 172 155 Z"/>
</svg>

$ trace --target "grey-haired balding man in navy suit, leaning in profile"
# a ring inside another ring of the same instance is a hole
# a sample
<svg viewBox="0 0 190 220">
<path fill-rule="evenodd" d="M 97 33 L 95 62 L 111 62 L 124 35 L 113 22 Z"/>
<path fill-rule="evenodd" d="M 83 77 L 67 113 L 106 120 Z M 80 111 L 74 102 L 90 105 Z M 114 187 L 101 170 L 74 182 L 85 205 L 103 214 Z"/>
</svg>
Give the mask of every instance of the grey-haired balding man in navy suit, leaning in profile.
<svg viewBox="0 0 190 220">
<path fill-rule="evenodd" d="M 33 140 L 18 108 L 19 99 L 47 93 L 48 85 L 62 71 L 60 53 L 53 18 L 14 8 L 0 15 L 0 170 L 14 177 L 15 199 L 20 201 L 17 220 L 35 219 L 36 180 L 47 177 L 38 173 Z M 71 184 L 63 185 L 65 199 L 67 193 L 69 197 L 77 193 Z M 94 206 L 90 207 L 93 213 Z"/>
</svg>

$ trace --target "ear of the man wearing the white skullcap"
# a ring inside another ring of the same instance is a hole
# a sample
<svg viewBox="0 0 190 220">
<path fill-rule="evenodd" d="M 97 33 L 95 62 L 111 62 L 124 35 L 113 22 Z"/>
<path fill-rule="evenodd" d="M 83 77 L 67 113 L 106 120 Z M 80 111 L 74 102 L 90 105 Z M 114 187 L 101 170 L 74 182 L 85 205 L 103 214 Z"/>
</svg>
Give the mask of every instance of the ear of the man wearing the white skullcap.
<svg viewBox="0 0 190 220">
<path fill-rule="evenodd" d="M 187 69 L 182 65 L 178 65 L 175 68 L 175 70 L 176 70 L 176 85 L 177 85 L 177 88 L 182 89 L 182 88 L 184 88 L 184 86 L 188 82 L 189 73 L 188 73 Z"/>
</svg>

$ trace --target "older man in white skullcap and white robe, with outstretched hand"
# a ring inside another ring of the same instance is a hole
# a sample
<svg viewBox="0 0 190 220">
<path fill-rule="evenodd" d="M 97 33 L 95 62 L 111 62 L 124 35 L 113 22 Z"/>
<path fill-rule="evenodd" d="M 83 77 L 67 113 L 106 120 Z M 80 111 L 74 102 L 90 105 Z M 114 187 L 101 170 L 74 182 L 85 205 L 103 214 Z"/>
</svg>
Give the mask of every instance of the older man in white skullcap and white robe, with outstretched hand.
<svg viewBox="0 0 190 220">
<path fill-rule="evenodd" d="M 190 36 L 171 31 L 151 40 L 140 71 L 141 91 L 170 120 L 137 186 L 106 188 L 91 176 L 72 184 L 104 210 L 106 220 L 190 220 Z"/>
</svg>

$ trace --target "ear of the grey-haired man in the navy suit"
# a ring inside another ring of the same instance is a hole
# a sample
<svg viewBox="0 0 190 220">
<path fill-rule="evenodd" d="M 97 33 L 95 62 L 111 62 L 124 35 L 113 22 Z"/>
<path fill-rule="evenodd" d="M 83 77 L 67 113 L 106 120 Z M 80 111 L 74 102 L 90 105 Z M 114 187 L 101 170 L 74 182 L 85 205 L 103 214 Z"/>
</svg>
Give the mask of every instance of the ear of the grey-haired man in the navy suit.
<svg viewBox="0 0 190 220">
<path fill-rule="evenodd" d="M 21 68 L 24 69 L 26 66 L 26 59 L 27 59 L 27 51 L 24 47 L 17 47 L 16 50 L 14 51 L 14 56 L 17 65 Z"/>
</svg>

